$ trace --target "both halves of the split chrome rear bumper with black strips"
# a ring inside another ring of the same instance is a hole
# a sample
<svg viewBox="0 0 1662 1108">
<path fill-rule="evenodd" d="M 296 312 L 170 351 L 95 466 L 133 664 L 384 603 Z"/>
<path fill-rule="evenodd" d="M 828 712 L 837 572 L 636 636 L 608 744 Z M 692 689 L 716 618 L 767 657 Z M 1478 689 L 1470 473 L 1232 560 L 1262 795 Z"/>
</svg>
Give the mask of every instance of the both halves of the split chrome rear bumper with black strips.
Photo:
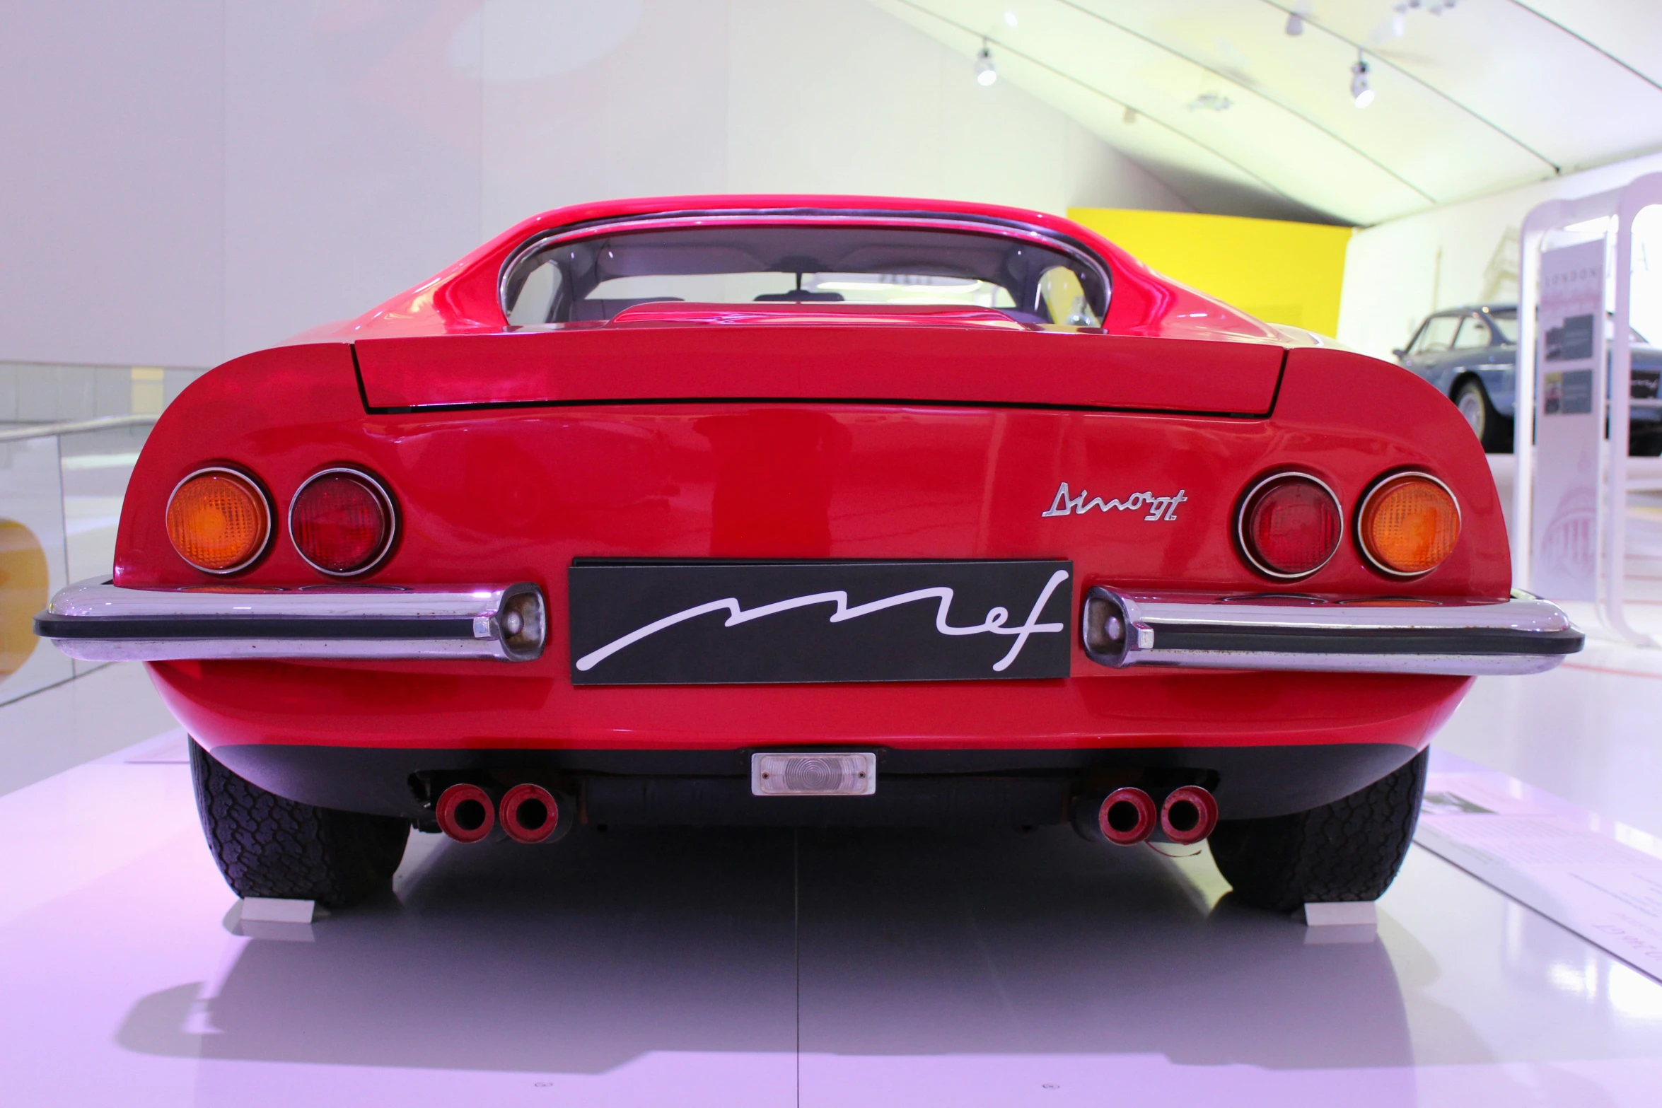
<svg viewBox="0 0 1662 1108">
<path fill-rule="evenodd" d="M 233 591 L 234 588 L 234 591 Z M 71 658 L 495 658 L 542 655 L 535 585 L 469 591 L 399 586 L 121 588 L 81 581 L 35 616 Z M 1507 674 L 1551 669 L 1582 646 L 1556 605 L 1527 595 L 1478 605 L 1346 605 L 1298 598 L 1210 603 L 1095 586 L 1085 655 L 1112 666 Z"/>
</svg>

